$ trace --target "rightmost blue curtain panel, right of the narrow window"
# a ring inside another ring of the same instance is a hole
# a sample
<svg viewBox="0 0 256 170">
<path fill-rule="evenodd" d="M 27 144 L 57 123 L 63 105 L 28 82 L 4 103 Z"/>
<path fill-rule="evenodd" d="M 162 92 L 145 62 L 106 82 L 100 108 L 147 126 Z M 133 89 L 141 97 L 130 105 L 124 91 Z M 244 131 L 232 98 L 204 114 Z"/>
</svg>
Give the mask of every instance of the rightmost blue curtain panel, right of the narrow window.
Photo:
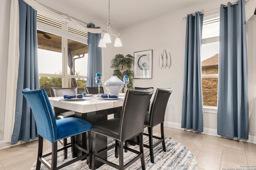
<svg viewBox="0 0 256 170">
<path fill-rule="evenodd" d="M 244 0 L 220 6 L 218 135 L 248 139 L 248 78 Z"/>
</svg>

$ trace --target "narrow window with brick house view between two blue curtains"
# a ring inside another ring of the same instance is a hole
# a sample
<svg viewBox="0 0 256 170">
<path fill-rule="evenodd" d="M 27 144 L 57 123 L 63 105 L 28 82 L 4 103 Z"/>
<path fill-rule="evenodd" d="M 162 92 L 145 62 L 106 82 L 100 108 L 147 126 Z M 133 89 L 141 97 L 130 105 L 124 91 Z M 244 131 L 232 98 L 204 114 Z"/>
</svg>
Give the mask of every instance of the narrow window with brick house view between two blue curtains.
<svg viewBox="0 0 256 170">
<path fill-rule="evenodd" d="M 202 93 L 203 105 L 216 107 L 218 97 L 220 18 L 204 20 L 202 30 Z"/>
</svg>

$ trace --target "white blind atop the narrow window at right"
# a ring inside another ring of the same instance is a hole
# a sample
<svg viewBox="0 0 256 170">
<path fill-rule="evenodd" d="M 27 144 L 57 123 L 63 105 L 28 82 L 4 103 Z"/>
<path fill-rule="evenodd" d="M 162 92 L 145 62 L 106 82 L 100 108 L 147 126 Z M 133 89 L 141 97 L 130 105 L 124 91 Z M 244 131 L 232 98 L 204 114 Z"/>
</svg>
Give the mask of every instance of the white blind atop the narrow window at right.
<svg viewBox="0 0 256 170">
<path fill-rule="evenodd" d="M 203 22 L 202 39 L 220 36 L 220 18 Z"/>
</svg>

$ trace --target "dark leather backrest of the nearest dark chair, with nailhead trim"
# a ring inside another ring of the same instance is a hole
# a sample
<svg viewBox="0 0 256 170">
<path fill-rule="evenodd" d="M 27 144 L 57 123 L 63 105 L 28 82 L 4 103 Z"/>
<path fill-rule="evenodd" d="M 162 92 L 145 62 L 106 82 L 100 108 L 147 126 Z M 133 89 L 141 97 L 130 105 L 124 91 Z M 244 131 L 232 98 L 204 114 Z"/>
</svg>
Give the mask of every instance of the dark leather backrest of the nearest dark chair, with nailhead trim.
<svg viewBox="0 0 256 170">
<path fill-rule="evenodd" d="M 120 139 L 125 141 L 143 132 L 148 103 L 154 90 L 126 90 L 120 120 Z"/>
</svg>

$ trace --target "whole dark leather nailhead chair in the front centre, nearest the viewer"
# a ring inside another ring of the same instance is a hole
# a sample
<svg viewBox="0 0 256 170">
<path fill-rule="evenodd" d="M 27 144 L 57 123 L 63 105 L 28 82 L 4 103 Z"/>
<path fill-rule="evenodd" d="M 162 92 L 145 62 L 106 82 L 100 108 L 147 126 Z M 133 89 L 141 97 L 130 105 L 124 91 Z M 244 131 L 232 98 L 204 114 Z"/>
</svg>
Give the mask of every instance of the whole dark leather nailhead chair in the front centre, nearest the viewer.
<svg viewBox="0 0 256 170">
<path fill-rule="evenodd" d="M 92 144 L 92 170 L 95 170 L 95 160 L 108 164 L 116 169 L 124 170 L 140 158 L 142 169 L 145 170 L 144 151 L 143 151 L 143 129 L 148 102 L 153 94 L 153 89 L 149 90 L 126 90 L 124 104 L 120 118 L 109 119 L 93 125 L 93 144 Z M 103 135 L 116 140 L 116 144 L 104 150 L 96 150 L 98 135 Z M 124 147 L 124 141 L 132 137 L 139 136 L 138 144 L 140 151 Z M 104 158 L 100 158 L 100 152 L 110 150 L 118 145 L 119 165 L 113 164 Z M 138 154 L 133 160 L 124 165 L 124 149 Z"/>
</svg>

